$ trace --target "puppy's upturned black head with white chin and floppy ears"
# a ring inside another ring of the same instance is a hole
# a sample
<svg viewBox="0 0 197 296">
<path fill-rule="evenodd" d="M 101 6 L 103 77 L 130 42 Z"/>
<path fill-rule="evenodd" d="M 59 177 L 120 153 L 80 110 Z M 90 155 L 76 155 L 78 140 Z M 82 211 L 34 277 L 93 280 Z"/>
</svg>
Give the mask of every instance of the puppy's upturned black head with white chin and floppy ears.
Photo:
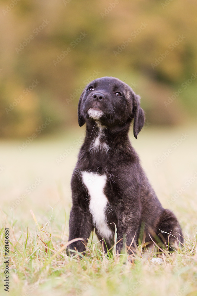
<svg viewBox="0 0 197 296">
<path fill-rule="evenodd" d="M 90 82 L 79 99 L 79 126 L 89 121 L 112 128 L 133 122 L 133 134 L 137 139 L 144 125 L 144 111 L 140 97 L 130 86 L 114 77 L 97 78 Z"/>
</svg>

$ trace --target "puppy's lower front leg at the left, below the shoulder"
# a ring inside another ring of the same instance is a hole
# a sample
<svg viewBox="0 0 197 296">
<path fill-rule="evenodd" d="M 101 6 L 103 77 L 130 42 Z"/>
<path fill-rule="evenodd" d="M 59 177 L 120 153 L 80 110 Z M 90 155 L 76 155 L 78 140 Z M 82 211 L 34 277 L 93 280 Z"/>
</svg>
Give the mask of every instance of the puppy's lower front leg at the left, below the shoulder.
<svg viewBox="0 0 197 296">
<path fill-rule="evenodd" d="M 79 206 L 73 205 L 69 218 L 69 241 L 78 237 L 82 237 L 84 241 L 79 240 L 71 243 L 67 250 L 75 250 L 76 248 L 78 252 L 84 252 L 91 231 L 92 217 L 89 212 L 85 213 Z"/>
</svg>

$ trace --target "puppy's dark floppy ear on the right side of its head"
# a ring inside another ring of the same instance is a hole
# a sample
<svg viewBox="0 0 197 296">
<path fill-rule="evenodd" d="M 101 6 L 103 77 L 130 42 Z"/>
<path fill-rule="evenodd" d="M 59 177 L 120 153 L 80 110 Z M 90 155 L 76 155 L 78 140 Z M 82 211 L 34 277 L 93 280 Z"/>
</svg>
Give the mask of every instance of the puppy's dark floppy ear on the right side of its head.
<svg viewBox="0 0 197 296">
<path fill-rule="evenodd" d="M 140 107 L 140 96 L 133 94 L 133 111 L 132 111 L 132 118 L 134 118 L 133 122 L 133 135 L 137 139 L 137 135 L 141 131 L 144 121 L 145 115 L 144 110 Z"/>
</svg>

